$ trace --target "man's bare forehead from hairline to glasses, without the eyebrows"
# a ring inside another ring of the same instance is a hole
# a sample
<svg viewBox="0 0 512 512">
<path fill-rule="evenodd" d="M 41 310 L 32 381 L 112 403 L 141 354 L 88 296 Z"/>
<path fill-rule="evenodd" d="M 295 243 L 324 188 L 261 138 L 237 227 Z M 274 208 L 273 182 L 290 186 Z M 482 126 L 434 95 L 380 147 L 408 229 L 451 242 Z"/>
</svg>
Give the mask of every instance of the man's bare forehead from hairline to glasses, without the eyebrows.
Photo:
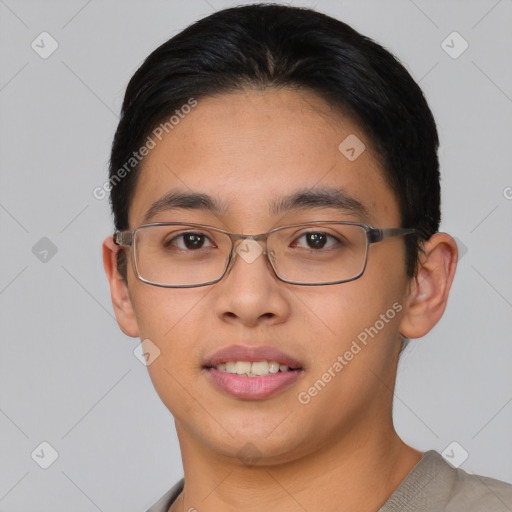
<svg viewBox="0 0 512 512">
<path fill-rule="evenodd" d="M 132 227 L 173 191 L 211 196 L 222 205 L 217 213 L 239 228 L 282 216 L 276 204 L 308 190 L 340 190 L 369 212 L 361 220 L 399 222 L 396 199 L 365 133 L 310 92 L 207 97 L 154 140 L 130 207 Z"/>
</svg>

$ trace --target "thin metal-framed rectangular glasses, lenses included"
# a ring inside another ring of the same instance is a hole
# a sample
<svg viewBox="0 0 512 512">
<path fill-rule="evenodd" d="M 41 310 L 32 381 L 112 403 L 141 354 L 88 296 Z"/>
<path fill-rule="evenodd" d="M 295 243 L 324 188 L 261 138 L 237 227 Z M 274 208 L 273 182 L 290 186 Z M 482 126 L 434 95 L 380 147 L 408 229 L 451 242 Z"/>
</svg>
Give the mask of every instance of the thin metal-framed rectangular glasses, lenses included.
<svg viewBox="0 0 512 512">
<path fill-rule="evenodd" d="M 236 255 L 252 263 L 261 254 L 279 280 L 319 286 L 358 279 L 366 268 L 370 244 L 416 232 L 373 228 L 357 222 L 321 221 L 241 235 L 202 224 L 158 222 L 133 231 L 116 231 L 114 242 L 131 247 L 137 277 L 154 286 L 192 288 L 215 284 L 226 275 Z"/>
</svg>

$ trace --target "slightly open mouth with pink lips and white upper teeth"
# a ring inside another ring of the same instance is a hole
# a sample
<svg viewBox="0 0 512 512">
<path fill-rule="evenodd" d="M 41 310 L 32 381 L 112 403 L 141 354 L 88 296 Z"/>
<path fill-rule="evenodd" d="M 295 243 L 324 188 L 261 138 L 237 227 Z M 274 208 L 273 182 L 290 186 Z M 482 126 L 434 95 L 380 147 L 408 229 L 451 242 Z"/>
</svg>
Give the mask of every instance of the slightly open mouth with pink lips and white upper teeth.
<svg viewBox="0 0 512 512">
<path fill-rule="evenodd" d="M 234 345 L 216 352 L 203 366 L 212 384 L 235 398 L 261 400 L 288 388 L 302 365 L 273 347 Z"/>
</svg>

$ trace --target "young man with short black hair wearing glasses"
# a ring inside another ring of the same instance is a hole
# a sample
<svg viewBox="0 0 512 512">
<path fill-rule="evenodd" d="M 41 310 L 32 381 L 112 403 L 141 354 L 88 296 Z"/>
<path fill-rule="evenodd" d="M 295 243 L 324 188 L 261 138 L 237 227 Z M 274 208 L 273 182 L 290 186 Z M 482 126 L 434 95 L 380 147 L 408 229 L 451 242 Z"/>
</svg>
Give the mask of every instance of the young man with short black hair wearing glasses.
<svg viewBox="0 0 512 512">
<path fill-rule="evenodd" d="M 512 508 L 393 426 L 457 261 L 437 147 L 407 71 L 312 10 L 217 12 L 136 72 L 103 251 L 182 452 L 150 511 Z"/>
</svg>

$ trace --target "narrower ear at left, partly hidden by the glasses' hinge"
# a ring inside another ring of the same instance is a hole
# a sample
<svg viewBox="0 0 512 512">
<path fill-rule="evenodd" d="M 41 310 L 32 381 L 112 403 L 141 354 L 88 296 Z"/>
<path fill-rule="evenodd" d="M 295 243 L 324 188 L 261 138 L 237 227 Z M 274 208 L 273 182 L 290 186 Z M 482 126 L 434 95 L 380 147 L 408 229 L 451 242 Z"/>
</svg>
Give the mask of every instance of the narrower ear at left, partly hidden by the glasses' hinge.
<svg viewBox="0 0 512 512">
<path fill-rule="evenodd" d="M 103 266 L 110 284 L 110 296 L 112 297 L 112 306 L 114 307 L 117 323 L 127 336 L 135 338 L 139 335 L 139 327 L 128 293 L 128 286 L 117 269 L 117 253 L 119 250 L 121 249 L 114 243 L 112 236 L 105 238 L 103 241 Z"/>
</svg>

